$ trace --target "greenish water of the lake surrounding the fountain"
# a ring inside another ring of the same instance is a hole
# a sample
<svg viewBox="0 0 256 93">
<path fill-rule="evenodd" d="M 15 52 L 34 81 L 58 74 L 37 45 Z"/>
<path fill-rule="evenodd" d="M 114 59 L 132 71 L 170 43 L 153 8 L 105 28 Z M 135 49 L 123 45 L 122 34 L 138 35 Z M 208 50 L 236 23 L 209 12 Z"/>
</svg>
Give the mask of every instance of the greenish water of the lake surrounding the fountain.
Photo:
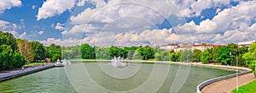
<svg viewBox="0 0 256 93">
<path fill-rule="evenodd" d="M 195 93 L 201 82 L 234 74 L 218 68 L 163 63 L 130 63 L 114 68 L 107 62 L 73 62 L 0 83 L 0 92 L 179 92 Z"/>
</svg>

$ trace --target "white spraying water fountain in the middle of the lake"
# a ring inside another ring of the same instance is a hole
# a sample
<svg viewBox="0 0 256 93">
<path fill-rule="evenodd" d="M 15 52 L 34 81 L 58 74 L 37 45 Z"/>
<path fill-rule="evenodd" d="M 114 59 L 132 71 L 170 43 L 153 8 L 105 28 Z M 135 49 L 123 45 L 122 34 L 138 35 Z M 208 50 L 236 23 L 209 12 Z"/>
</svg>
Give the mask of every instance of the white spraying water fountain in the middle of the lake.
<svg viewBox="0 0 256 93">
<path fill-rule="evenodd" d="M 110 65 L 113 67 L 127 67 L 129 63 L 122 63 L 123 57 L 113 57 Z"/>
</svg>

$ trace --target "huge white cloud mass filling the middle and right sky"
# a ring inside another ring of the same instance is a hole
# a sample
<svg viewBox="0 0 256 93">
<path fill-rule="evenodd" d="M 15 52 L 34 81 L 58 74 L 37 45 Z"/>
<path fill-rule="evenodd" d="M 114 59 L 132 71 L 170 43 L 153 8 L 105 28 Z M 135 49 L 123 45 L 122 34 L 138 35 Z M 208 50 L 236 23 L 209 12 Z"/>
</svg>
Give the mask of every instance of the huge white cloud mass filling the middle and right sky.
<svg viewBox="0 0 256 93">
<path fill-rule="evenodd" d="M 67 36 L 63 40 L 65 45 L 76 45 L 81 42 L 105 47 L 111 44 L 116 46 L 152 46 L 154 43 L 163 45 L 181 42 L 228 44 L 256 39 L 256 10 L 253 9 L 256 8 L 256 1 L 239 1 L 237 6 L 231 7 L 230 0 L 177 0 L 174 3 L 177 3 L 177 8 L 181 10 L 181 14 L 187 17 L 201 16 L 201 11 L 213 7 L 218 8 L 215 13 L 217 15 L 212 19 L 202 20 L 199 24 L 195 24 L 195 21 L 192 20 L 168 30 L 148 29 L 148 25 L 159 24 L 165 19 L 161 14 L 170 16 L 177 12 L 172 7 L 162 8 L 161 6 L 165 5 L 157 4 L 159 1 L 151 4 L 147 1 L 138 2 L 152 5 L 149 9 L 136 3 L 90 2 L 96 4 L 96 8 L 85 8 L 80 14 L 73 15 L 70 22 L 73 26 L 62 32 L 64 37 Z M 199 6 L 202 4 L 205 6 Z M 227 8 L 221 8 L 221 6 L 227 6 Z M 158 11 L 161 14 L 154 11 L 158 9 L 162 9 Z M 182 15 L 175 14 L 175 16 Z"/>
</svg>

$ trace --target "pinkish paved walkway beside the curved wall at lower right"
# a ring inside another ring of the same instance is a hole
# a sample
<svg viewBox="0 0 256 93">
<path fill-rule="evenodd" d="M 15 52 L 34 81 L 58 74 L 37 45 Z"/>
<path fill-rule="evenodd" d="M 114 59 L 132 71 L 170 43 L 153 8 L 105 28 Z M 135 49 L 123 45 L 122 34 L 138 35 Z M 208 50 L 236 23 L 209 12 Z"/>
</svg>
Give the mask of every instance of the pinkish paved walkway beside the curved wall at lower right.
<svg viewBox="0 0 256 93">
<path fill-rule="evenodd" d="M 253 73 L 244 74 L 238 76 L 238 85 L 246 85 L 249 82 L 254 80 Z M 236 77 L 230 79 L 224 79 L 211 85 L 207 85 L 204 87 L 201 92 L 202 93 L 231 93 L 232 90 L 236 89 Z"/>
</svg>

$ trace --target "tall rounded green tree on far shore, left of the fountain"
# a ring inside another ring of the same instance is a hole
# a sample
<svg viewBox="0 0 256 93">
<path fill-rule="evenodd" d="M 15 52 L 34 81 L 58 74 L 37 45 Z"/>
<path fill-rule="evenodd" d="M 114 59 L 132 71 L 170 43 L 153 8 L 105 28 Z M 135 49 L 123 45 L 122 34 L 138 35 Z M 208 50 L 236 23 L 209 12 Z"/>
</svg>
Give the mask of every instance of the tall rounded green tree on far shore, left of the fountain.
<svg viewBox="0 0 256 93">
<path fill-rule="evenodd" d="M 95 58 L 95 48 L 90 47 L 89 44 L 82 44 L 81 52 L 82 52 L 82 58 L 84 58 L 84 59 Z"/>
</svg>

